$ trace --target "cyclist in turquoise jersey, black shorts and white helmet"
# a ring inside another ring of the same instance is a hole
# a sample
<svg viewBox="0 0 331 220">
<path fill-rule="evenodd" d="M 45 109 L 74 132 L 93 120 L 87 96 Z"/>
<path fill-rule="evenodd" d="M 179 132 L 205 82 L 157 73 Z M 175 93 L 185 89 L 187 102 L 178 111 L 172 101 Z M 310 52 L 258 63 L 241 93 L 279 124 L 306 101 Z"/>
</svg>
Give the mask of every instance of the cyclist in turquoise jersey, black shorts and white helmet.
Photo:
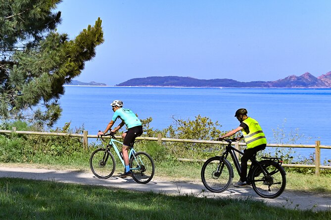
<svg viewBox="0 0 331 220">
<path fill-rule="evenodd" d="M 120 177 L 124 178 L 131 176 L 128 149 L 135 142 L 136 137 L 142 135 L 142 122 L 132 110 L 122 108 L 122 101 L 114 100 L 110 105 L 112 106 L 114 115 L 104 132 L 100 131 L 97 133 L 97 135 L 104 135 L 105 133 L 107 133 L 108 130 L 112 133 L 115 133 L 116 131 L 121 129 L 124 124 L 127 126 L 128 131 L 122 134 L 122 138 L 124 140 L 122 146 L 122 154 L 125 164 L 125 171 L 124 174 L 120 175 Z M 111 127 L 114 125 L 117 118 L 120 118 L 122 122 L 116 128 L 111 130 Z"/>
</svg>

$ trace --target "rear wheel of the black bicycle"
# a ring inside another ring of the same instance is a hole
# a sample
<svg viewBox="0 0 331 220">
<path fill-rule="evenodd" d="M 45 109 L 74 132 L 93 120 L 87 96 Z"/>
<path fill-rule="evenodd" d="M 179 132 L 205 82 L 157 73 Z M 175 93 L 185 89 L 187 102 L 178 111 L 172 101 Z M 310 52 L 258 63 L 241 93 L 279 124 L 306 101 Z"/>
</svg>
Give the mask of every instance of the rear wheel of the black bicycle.
<svg viewBox="0 0 331 220">
<path fill-rule="evenodd" d="M 252 169 L 253 190 L 263 198 L 273 199 L 280 196 L 286 186 L 286 173 L 284 168 L 273 160 L 259 162 L 268 176 L 264 176 L 259 166 Z"/>
</svg>

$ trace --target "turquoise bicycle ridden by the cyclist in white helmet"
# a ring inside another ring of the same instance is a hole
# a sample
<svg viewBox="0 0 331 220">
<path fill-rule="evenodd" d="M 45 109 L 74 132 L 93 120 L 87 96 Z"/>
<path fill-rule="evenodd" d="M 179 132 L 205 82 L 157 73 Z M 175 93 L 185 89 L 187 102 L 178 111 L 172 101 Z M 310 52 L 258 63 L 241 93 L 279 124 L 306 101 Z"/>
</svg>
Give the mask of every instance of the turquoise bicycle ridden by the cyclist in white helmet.
<svg viewBox="0 0 331 220">
<path fill-rule="evenodd" d="M 107 179 L 114 174 L 116 168 L 116 161 L 114 155 L 110 151 L 111 149 L 115 150 L 125 169 L 122 152 L 115 144 L 118 143 L 122 147 L 123 143 L 115 140 L 115 136 L 112 133 L 102 136 L 110 136 L 110 142 L 106 147 L 100 147 L 93 151 L 90 157 L 90 167 L 97 178 Z M 100 136 L 100 138 L 105 142 L 102 136 Z M 146 152 L 136 152 L 133 148 L 133 144 L 130 146 L 129 152 L 129 163 L 132 178 L 137 183 L 148 183 L 153 178 L 155 172 L 153 158 Z"/>
</svg>

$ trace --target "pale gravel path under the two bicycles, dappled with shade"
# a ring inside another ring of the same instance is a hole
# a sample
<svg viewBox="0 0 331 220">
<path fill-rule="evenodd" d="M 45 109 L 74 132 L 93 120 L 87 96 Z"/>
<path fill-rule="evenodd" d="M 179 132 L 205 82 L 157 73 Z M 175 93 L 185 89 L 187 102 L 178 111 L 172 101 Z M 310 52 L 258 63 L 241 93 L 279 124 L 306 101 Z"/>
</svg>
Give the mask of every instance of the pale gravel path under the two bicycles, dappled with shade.
<svg viewBox="0 0 331 220">
<path fill-rule="evenodd" d="M 252 187 L 230 187 L 223 193 L 212 193 L 205 189 L 202 183 L 188 183 L 177 181 L 165 181 L 154 177 L 147 184 L 136 183 L 131 177 L 122 179 L 113 176 L 107 180 L 97 179 L 92 172 L 80 172 L 75 170 L 54 170 L 29 167 L 0 167 L 0 177 L 24 178 L 32 180 L 58 181 L 63 183 L 79 183 L 89 185 L 103 185 L 114 188 L 124 188 L 139 191 L 154 191 L 168 194 L 192 194 L 207 197 L 250 197 L 266 201 L 270 205 L 280 206 L 288 209 L 300 210 L 331 210 L 331 197 L 313 195 L 310 193 L 294 193 L 289 190 L 275 199 L 264 199 L 259 197 Z"/>
</svg>

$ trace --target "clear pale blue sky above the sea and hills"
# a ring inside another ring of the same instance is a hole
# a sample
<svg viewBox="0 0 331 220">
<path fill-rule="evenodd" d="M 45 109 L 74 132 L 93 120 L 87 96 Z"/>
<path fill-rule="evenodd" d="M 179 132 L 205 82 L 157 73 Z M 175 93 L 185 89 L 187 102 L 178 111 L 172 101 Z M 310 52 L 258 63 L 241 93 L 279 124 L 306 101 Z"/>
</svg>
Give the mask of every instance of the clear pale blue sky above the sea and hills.
<svg viewBox="0 0 331 220">
<path fill-rule="evenodd" d="M 330 0 L 63 0 L 57 31 L 100 17 L 105 42 L 75 79 L 147 76 L 270 81 L 331 71 Z"/>
</svg>

